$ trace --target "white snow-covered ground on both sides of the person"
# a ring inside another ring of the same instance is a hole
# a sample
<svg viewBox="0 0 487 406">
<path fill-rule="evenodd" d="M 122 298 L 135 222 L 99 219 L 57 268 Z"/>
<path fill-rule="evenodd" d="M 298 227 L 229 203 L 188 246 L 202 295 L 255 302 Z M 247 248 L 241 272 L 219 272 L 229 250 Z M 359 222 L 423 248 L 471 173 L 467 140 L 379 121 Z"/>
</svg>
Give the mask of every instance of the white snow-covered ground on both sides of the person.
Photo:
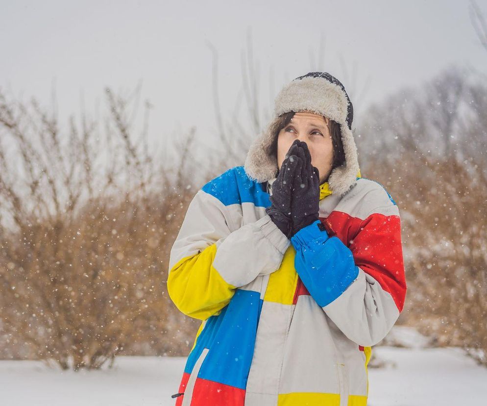
<svg viewBox="0 0 487 406">
<path fill-rule="evenodd" d="M 487 404 L 487 368 L 456 348 L 373 347 L 369 406 Z M 111 370 L 60 371 L 38 361 L 0 361 L 0 405 L 173 405 L 185 358 L 119 356 Z"/>
</svg>

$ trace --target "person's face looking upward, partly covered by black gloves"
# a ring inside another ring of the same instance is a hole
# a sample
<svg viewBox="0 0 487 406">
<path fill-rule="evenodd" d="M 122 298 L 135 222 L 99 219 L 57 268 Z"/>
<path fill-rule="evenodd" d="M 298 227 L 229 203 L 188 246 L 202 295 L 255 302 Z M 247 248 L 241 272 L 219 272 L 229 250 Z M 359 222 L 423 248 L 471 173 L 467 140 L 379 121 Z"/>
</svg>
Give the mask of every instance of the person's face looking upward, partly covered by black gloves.
<svg viewBox="0 0 487 406">
<path fill-rule="evenodd" d="M 295 139 L 304 141 L 311 153 L 311 164 L 318 168 L 319 183 L 323 183 L 332 170 L 333 143 L 323 116 L 307 111 L 294 114 L 286 127 L 279 131 L 277 137 L 277 164 L 279 169 L 286 153 Z"/>
</svg>

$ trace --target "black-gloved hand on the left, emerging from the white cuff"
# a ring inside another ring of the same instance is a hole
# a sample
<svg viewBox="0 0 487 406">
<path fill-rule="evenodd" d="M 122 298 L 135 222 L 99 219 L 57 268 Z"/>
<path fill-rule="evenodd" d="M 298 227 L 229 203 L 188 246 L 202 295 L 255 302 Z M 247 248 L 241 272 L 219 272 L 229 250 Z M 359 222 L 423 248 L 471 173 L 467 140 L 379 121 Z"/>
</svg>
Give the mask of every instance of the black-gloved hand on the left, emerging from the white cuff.
<svg viewBox="0 0 487 406">
<path fill-rule="evenodd" d="M 291 238 L 292 231 L 291 189 L 298 163 L 295 158 L 289 152 L 286 154 L 281 169 L 272 182 L 272 194 L 269 198 L 272 204 L 266 208 L 271 220 L 288 238 Z"/>
</svg>

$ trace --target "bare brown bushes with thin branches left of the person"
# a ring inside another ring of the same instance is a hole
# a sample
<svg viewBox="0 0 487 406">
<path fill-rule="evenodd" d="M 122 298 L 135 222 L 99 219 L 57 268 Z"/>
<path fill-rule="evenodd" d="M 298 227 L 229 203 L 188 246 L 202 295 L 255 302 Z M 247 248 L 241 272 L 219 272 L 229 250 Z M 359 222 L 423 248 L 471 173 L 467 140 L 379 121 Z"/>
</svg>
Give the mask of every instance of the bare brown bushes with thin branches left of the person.
<svg viewBox="0 0 487 406">
<path fill-rule="evenodd" d="M 65 130 L 37 101 L 0 92 L 0 328 L 12 357 L 78 370 L 192 344 L 195 323 L 175 311 L 166 279 L 198 187 L 185 153 L 195 131 L 176 163 L 158 164 L 146 133 L 134 140 L 135 96 L 107 89 L 103 123 L 71 117 Z"/>
</svg>

